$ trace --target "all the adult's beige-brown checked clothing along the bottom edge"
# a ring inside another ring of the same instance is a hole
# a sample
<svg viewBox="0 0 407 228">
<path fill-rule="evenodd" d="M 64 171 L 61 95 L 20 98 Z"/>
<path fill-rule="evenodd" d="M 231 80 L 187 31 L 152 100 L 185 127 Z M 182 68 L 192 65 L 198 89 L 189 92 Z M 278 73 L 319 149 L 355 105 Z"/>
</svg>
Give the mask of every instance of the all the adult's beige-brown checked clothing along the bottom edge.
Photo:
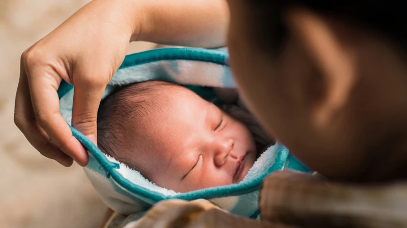
<svg viewBox="0 0 407 228">
<path fill-rule="evenodd" d="M 261 220 L 253 220 L 206 200 L 169 200 L 140 219 L 118 215 L 109 228 L 407 227 L 407 184 L 356 186 L 329 183 L 318 175 L 275 172 L 261 186 L 259 209 Z"/>
</svg>

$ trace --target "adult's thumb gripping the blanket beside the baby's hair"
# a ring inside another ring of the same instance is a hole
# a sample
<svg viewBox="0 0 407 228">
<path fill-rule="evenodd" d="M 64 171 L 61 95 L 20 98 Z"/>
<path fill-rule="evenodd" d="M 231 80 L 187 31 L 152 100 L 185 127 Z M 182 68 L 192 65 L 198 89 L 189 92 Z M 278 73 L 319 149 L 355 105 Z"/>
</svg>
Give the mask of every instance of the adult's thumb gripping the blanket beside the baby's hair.
<svg viewBox="0 0 407 228">
<path fill-rule="evenodd" d="M 72 126 L 97 145 L 97 116 L 106 84 L 74 84 Z"/>
</svg>

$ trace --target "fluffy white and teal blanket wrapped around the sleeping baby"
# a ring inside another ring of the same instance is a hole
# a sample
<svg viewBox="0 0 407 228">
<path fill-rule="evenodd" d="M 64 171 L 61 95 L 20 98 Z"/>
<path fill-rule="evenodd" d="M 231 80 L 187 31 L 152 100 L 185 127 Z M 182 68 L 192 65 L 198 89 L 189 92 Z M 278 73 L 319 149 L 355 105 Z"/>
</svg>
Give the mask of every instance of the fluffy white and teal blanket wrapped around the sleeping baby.
<svg viewBox="0 0 407 228">
<path fill-rule="evenodd" d="M 225 48 L 163 48 L 128 55 L 106 87 L 103 99 L 118 86 L 149 80 L 234 88 L 227 58 Z M 73 87 L 63 82 L 58 93 L 61 114 L 71 124 Z M 150 182 L 139 172 L 101 152 L 75 128 L 71 129 L 89 151 L 89 164 L 84 168 L 86 175 L 103 201 L 119 213 L 144 212 L 166 199 L 208 199 L 231 213 L 256 218 L 258 190 L 268 174 L 283 169 L 309 172 L 284 146 L 276 143 L 260 155 L 240 183 L 177 193 Z"/>
</svg>

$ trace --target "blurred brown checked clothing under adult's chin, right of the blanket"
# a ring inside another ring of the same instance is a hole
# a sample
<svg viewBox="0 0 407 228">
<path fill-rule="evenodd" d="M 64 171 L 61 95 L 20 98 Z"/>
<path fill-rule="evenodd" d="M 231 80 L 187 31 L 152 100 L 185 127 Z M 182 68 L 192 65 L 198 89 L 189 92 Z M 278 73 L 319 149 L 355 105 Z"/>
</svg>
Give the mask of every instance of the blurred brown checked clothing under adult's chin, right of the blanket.
<svg viewBox="0 0 407 228">
<path fill-rule="evenodd" d="M 261 187 L 261 218 L 303 227 L 407 227 L 407 183 L 349 185 L 289 171 Z"/>
</svg>

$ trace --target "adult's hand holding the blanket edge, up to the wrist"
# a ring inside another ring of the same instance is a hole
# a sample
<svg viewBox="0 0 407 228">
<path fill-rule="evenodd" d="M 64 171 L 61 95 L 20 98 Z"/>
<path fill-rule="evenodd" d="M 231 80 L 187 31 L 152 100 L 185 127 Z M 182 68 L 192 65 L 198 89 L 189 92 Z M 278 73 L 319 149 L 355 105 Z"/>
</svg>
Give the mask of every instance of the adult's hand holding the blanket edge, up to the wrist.
<svg viewBox="0 0 407 228">
<path fill-rule="evenodd" d="M 62 80 L 74 85 L 72 125 L 96 143 L 103 91 L 134 32 L 131 2 L 93 1 L 21 56 L 14 121 L 41 154 L 66 167 L 72 158 L 85 166 L 88 154 L 61 116 L 56 91 Z"/>
</svg>

